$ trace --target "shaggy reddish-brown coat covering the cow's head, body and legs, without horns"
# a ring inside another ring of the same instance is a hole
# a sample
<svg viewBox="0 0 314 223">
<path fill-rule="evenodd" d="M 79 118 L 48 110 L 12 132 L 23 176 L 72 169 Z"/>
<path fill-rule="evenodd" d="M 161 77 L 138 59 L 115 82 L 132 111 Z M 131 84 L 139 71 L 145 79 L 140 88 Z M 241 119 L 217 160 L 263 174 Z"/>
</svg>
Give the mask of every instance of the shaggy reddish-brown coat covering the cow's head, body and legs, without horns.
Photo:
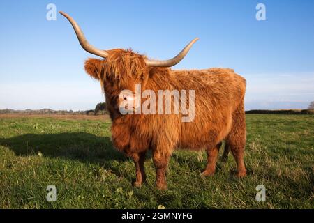
<svg viewBox="0 0 314 223">
<path fill-rule="evenodd" d="M 165 188 L 165 172 L 174 148 L 200 150 L 208 155 L 203 176 L 215 172 L 218 149 L 226 141 L 237 162 L 237 176 L 246 175 L 244 146 L 246 123 L 244 94 L 246 81 L 234 70 L 211 68 L 207 70 L 171 70 L 150 68 L 145 57 L 130 50 L 114 49 L 104 59 L 88 59 L 85 70 L 98 79 L 105 92 L 107 109 L 112 118 L 112 141 L 119 151 L 135 162 L 136 180 L 140 186 L 146 178 L 145 154 L 151 149 L 156 167 L 156 185 Z M 181 114 L 127 114 L 119 112 L 119 93 L 135 84 L 142 84 L 142 91 L 195 90 L 195 119 L 181 122 Z"/>
</svg>

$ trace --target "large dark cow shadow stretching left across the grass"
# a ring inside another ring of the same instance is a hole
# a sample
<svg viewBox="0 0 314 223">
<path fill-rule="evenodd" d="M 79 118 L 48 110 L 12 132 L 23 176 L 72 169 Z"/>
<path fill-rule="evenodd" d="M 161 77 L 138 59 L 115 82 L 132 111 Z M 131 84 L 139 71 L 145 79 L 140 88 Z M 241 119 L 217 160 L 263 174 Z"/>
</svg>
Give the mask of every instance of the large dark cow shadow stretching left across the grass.
<svg viewBox="0 0 314 223">
<path fill-rule="evenodd" d="M 85 132 L 59 134 L 23 134 L 8 139 L 0 138 L 0 145 L 15 155 L 61 157 L 81 162 L 102 163 L 110 160 L 126 161 L 127 158 L 112 147 L 110 137 L 98 137 Z"/>
</svg>

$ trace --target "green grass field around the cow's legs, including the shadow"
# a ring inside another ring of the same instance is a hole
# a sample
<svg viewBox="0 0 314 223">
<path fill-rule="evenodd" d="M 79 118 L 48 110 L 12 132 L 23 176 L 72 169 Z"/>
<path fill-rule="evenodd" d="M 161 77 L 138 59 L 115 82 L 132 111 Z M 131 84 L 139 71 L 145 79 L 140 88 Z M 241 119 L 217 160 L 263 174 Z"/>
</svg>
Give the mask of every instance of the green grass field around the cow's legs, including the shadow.
<svg viewBox="0 0 314 223">
<path fill-rule="evenodd" d="M 112 148 L 108 119 L 0 118 L 0 208 L 314 208 L 314 116 L 249 114 L 246 122 L 246 178 L 234 178 L 231 155 L 201 178 L 206 154 L 176 151 L 168 190 L 159 191 L 151 155 L 148 184 L 131 186 L 133 161 Z M 56 202 L 47 202 L 47 185 L 56 185 Z M 265 202 L 255 201 L 257 185 Z"/>
</svg>

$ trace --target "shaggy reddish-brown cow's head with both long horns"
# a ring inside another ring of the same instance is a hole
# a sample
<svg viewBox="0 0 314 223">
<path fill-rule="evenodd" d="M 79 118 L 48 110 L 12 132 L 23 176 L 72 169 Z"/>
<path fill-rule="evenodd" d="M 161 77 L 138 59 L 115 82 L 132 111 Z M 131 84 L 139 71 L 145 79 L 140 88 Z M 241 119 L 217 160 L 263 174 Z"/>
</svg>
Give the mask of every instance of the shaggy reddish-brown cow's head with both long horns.
<svg viewBox="0 0 314 223">
<path fill-rule="evenodd" d="M 97 49 L 88 43 L 80 26 L 70 15 L 63 12 L 60 13 L 72 24 L 83 49 L 103 58 L 87 59 L 84 68 L 91 77 L 100 81 L 103 91 L 105 91 L 106 102 L 109 104 L 108 109 L 119 110 L 122 105 L 125 106 L 126 104 L 129 105 L 128 109 L 135 109 L 135 86 L 136 84 L 141 84 L 141 90 L 144 90 L 147 79 L 149 79 L 150 68 L 169 68 L 176 65 L 184 59 L 190 47 L 198 40 L 198 38 L 192 40 L 172 59 L 165 61 L 150 60 L 146 56 L 137 54 L 131 50 Z M 126 101 L 128 103 L 125 103 Z"/>
</svg>

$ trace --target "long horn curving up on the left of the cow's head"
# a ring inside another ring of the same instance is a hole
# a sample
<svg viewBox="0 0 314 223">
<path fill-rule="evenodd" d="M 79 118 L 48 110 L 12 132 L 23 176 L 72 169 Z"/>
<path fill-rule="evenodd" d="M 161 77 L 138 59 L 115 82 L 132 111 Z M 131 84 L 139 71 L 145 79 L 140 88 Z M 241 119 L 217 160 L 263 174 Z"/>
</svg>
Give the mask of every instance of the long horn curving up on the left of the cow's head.
<svg viewBox="0 0 314 223">
<path fill-rule="evenodd" d="M 70 15 L 63 13 L 63 12 L 59 12 L 59 13 L 61 15 L 63 15 L 64 17 L 66 17 L 68 19 L 68 21 L 70 22 L 70 24 L 72 24 L 73 29 L 76 33 L 76 36 L 77 36 L 78 40 L 80 41 L 80 45 L 83 47 L 83 49 L 85 49 L 87 52 L 89 52 L 91 54 L 101 56 L 103 58 L 106 58 L 108 56 L 108 53 L 105 50 L 97 49 L 93 45 L 89 44 L 89 42 L 87 41 L 87 39 L 84 36 L 84 33 L 82 32 L 82 29 L 77 24 L 77 22 L 75 22 L 75 20 L 73 20 L 73 18 L 70 17 Z"/>
</svg>

